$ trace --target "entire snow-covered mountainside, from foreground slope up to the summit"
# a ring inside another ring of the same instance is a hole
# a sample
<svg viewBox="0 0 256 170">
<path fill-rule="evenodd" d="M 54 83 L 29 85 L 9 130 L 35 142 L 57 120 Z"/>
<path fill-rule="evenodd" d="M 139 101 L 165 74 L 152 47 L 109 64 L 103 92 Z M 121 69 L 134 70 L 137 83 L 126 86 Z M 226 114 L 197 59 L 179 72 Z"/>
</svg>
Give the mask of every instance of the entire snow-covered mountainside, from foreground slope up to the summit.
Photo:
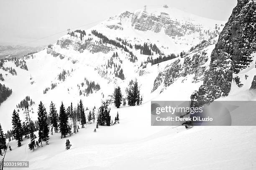
<svg viewBox="0 0 256 170">
<path fill-rule="evenodd" d="M 185 130 L 150 124 L 151 100 L 190 100 L 192 93 L 204 84 L 224 23 L 171 7 L 148 7 L 146 12 L 124 12 L 84 32 L 64 35 L 46 49 L 24 57 L 28 70 L 16 67 L 15 61 L 4 62 L 3 67 L 15 68 L 17 72 L 12 75 L 0 69 L 5 79 L 0 83 L 13 90 L 0 105 L 4 131 L 11 129 L 13 109 L 19 109 L 24 120 L 23 110 L 16 105 L 26 96 L 35 102 L 29 107 L 33 120 L 37 119 L 40 101 L 49 111 L 51 101 L 58 109 L 61 102 L 65 106 L 71 102 L 77 105 L 82 99 L 84 107 L 92 110 L 94 106 L 100 107 L 102 100 L 109 99 L 117 86 L 125 95 L 126 87 L 134 81 L 143 96 L 139 106 L 117 109 L 110 105 L 111 117 L 118 112 L 120 124 L 100 127 L 97 133 L 93 132 L 95 124 L 87 125 L 68 137 L 71 150 L 64 150 L 65 140 L 54 133 L 50 135 L 50 145 L 34 152 L 28 150 L 27 139 L 19 148 L 16 141 L 11 141 L 13 150 L 7 152 L 6 160 L 29 160 L 30 169 L 49 170 L 255 168 L 253 127 Z M 135 45 L 145 43 L 152 44 L 149 47 L 152 55 L 136 49 Z M 151 65 L 160 55 L 175 58 Z M 233 77 L 241 77 L 240 82 L 234 79 L 230 95 L 220 100 L 255 100 L 255 93 L 249 90 L 256 75 L 255 53 L 252 58 L 247 69 L 234 73 Z M 100 90 L 87 92 L 86 80 L 98 83 Z"/>
</svg>

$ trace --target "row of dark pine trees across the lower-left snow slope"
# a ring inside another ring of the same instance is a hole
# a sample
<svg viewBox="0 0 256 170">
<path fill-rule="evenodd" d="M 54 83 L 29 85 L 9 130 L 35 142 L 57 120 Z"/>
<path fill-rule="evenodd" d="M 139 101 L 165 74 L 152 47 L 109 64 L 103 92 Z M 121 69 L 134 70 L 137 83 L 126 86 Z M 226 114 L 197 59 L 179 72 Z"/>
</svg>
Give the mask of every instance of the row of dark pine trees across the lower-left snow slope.
<svg viewBox="0 0 256 170">
<path fill-rule="evenodd" d="M 85 110 L 88 110 L 88 108 L 84 108 L 82 100 L 79 101 L 77 107 L 73 107 L 73 104 L 71 103 L 67 109 L 65 108 L 63 102 L 61 102 L 58 114 L 55 104 L 51 102 L 48 116 L 46 107 L 42 102 L 40 102 L 37 111 L 38 120 L 35 121 L 36 125 L 31 120 L 28 106 L 25 107 L 24 113 L 26 120 L 23 123 L 20 120 L 18 112 L 13 110 L 13 129 L 11 134 L 15 140 L 18 141 L 18 147 L 20 147 L 22 144 L 23 136 L 25 136 L 25 138 L 30 138 L 31 141 L 28 147 L 30 150 L 35 150 L 35 148 L 43 147 L 43 142 L 45 142 L 46 145 L 49 145 L 49 133 L 53 135 L 53 132 L 60 132 L 61 138 L 66 138 L 67 135 L 71 136 L 73 133 L 78 133 L 79 125 L 81 125 L 81 128 L 84 128 L 87 123 L 91 124 L 97 121 L 96 128 L 98 128 L 99 125 L 110 126 L 117 123 L 117 121 L 119 122 L 119 115 L 117 114 L 113 124 L 113 120 L 111 120 L 109 115 L 110 108 L 108 108 L 108 102 L 102 101 L 102 106 L 98 109 L 97 115 L 96 107 L 94 107 L 92 111 L 89 111 L 87 116 L 85 114 Z M 37 137 L 34 134 L 36 130 L 38 130 L 38 140 L 36 140 Z M 2 143 L 0 143 L 0 146 L 2 146 Z"/>
</svg>

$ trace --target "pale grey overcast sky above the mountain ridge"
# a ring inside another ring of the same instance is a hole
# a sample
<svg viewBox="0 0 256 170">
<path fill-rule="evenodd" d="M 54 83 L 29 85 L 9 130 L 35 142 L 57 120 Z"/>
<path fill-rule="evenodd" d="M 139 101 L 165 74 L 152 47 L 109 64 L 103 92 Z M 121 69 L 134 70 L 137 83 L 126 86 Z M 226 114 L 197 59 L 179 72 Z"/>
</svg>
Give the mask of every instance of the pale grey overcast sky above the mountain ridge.
<svg viewBox="0 0 256 170">
<path fill-rule="evenodd" d="M 236 3 L 237 0 L 0 0 L 0 44 L 47 45 L 66 34 L 59 32 L 67 28 L 86 25 L 82 27 L 85 30 L 97 21 L 144 5 L 167 4 L 202 17 L 227 21 Z M 42 37 L 47 38 L 37 40 Z"/>
</svg>

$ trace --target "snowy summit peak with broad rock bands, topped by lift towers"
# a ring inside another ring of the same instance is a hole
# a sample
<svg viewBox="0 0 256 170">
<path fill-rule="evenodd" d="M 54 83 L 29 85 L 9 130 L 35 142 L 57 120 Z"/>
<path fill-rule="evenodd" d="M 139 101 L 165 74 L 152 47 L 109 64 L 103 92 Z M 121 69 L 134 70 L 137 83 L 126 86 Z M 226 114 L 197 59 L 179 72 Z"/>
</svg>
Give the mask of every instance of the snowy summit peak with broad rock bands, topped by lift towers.
<svg viewBox="0 0 256 170">
<path fill-rule="evenodd" d="M 92 29 L 133 44 L 154 42 L 168 54 L 187 51 L 202 40 L 215 37 L 224 25 L 225 21 L 198 17 L 173 7 L 147 7 L 146 11 L 126 11 L 116 15 Z"/>
</svg>

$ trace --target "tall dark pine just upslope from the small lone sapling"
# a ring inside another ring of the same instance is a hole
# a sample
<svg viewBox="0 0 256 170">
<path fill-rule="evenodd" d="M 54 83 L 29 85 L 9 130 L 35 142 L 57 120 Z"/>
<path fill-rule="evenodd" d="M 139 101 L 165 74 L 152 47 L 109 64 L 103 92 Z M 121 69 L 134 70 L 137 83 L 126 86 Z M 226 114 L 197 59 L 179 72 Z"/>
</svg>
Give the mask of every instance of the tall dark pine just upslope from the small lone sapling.
<svg viewBox="0 0 256 170">
<path fill-rule="evenodd" d="M 66 114 L 63 102 L 61 102 L 61 107 L 59 109 L 59 130 L 61 132 L 61 138 L 66 138 L 66 135 L 69 133 L 68 119 L 69 117 Z"/>
</svg>

